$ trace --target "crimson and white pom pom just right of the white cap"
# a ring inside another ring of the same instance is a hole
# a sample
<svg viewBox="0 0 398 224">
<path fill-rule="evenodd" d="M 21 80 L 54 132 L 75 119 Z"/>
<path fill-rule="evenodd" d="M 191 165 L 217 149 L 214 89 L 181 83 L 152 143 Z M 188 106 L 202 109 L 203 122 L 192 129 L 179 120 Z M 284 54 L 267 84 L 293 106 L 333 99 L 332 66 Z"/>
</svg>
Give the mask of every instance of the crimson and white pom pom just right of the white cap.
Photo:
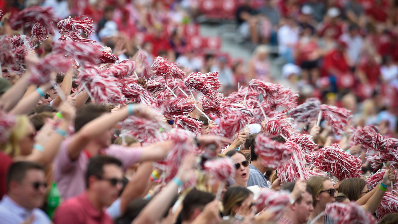
<svg viewBox="0 0 398 224">
<path fill-rule="evenodd" d="M 284 136 L 285 138 L 291 137 L 292 126 L 287 121 L 284 112 L 269 118 L 263 127 L 270 136 Z"/>
</svg>

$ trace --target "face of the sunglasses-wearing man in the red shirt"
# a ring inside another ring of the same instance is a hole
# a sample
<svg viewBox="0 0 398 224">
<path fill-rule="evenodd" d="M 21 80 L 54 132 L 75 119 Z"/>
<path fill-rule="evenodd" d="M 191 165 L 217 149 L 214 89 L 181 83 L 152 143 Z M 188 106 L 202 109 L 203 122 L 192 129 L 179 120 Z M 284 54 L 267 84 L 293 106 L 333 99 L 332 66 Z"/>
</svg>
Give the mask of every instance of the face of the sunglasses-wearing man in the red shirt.
<svg viewBox="0 0 398 224">
<path fill-rule="evenodd" d="M 122 179 L 123 171 L 121 167 L 114 164 L 103 167 L 102 179 L 96 181 L 97 193 L 103 205 L 110 206 L 118 198 L 119 192 L 123 188 Z"/>
</svg>

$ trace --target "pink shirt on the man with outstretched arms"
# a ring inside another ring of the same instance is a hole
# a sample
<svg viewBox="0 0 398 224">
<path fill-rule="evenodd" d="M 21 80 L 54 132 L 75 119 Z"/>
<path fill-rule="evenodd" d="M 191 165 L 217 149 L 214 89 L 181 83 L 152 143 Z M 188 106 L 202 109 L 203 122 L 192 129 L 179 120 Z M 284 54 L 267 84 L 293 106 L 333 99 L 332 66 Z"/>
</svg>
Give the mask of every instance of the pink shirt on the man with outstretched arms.
<svg viewBox="0 0 398 224">
<path fill-rule="evenodd" d="M 89 161 L 87 153 L 81 152 L 75 161 L 68 155 L 68 143 L 64 140 L 53 163 L 53 179 L 61 193 L 62 200 L 80 195 L 86 190 L 86 170 Z M 105 154 L 113 156 L 123 163 L 123 169 L 137 163 L 141 156 L 141 148 L 129 148 L 121 145 L 110 145 Z"/>
</svg>

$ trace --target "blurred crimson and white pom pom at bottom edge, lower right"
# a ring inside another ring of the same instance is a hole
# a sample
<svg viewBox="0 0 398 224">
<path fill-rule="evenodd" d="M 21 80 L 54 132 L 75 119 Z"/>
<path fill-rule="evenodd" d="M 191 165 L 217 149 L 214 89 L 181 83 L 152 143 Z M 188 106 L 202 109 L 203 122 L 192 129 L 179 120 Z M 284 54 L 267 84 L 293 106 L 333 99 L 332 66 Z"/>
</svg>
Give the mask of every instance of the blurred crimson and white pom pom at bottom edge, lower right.
<svg viewBox="0 0 398 224">
<path fill-rule="evenodd" d="M 359 204 L 334 202 L 326 205 L 325 214 L 331 217 L 334 224 L 376 224 L 376 219 Z"/>
</svg>

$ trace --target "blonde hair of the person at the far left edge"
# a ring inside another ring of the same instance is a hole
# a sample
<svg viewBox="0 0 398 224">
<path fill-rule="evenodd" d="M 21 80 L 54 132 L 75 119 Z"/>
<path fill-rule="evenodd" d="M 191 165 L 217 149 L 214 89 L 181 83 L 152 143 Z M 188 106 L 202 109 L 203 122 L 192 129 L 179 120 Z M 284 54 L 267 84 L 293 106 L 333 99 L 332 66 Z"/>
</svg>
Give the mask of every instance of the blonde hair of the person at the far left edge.
<svg viewBox="0 0 398 224">
<path fill-rule="evenodd" d="M 1 150 L 10 155 L 11 157 L 16 157 L 20 155 L 20 145 L 19 142 L 26 135 L 26 129 L 29 124 L 29 119 L 27 116 L 18 116 L 16 117 L 16 122 L 14 128 L 10 132 L 10 136 L 5 143 L 2 143 L 0 146 Z"/>
</svg>

